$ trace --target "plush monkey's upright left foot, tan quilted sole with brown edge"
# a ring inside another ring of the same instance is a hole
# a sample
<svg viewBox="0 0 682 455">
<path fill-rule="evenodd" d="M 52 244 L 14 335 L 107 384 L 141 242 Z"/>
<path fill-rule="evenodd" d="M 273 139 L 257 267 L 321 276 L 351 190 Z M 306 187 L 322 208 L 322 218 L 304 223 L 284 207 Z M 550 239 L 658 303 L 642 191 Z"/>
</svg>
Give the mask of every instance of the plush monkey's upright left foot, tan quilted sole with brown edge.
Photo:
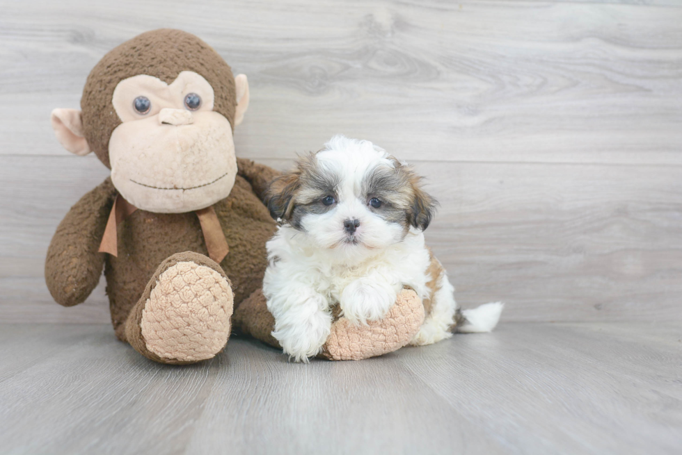
<svg viewBox="0 0 682 455">
<path fill-rule="evenodd" d="M 160 363 L 195 363 L 223 350 L 233 295 L 221 267 L 202 254 L 174 254 L 159 265 L 128 316 L 126 338 Z"/>
</svg>

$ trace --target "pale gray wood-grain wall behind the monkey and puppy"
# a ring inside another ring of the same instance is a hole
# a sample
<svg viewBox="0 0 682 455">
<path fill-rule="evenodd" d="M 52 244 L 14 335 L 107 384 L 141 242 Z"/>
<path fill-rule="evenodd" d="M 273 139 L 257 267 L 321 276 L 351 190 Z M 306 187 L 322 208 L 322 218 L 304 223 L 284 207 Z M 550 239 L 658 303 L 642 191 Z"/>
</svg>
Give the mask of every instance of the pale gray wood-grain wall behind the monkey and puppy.
<svg viewBox="0 0 682 455">
<path fill-rule="evenodd" d="M 650 4 L 638 4 L 650 3 Z M 106 322 L 43 281 L 56 225 L 106 177 L 54 140 L 109 49 L 183 28 L 251 82 L 241 156 L 334 133 L 429 178 L 427 231 L 464 306 L 505 320 L 682 321 L 682 8 L 676 1 L 1 1 L 0 320 Z"/>
</svg>

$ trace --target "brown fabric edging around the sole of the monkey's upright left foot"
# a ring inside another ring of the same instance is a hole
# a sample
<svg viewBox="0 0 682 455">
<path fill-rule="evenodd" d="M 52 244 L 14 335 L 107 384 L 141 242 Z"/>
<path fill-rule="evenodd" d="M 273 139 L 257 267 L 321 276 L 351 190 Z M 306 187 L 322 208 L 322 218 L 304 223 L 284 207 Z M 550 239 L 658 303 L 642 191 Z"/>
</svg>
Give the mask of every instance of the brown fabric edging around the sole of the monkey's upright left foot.
<svg viewBox="0 0 682 455">
<path fill-rule="evenodd" d="M 179 361 L 177 359 L 161 358 L 157 356 L 157 354 L 154 354 L 152 351 L 147 349 L 145 339 L 142 336 L 141 321 L 142 312 L 145 308 L 145 302 L 147 299 L 149 299 L 152 289 L 154 289 L 154 286 L 156 286 L 157 282 L 159 281 L 159 275 L 168 270 L 168 268 L 173 267 L 173 265 L 180 262 L 193 262 L 199 265 L 205 265 L 206 267 L 209 267 L 221 274 L 223 277 L 225 277 L 225 279 L 228 279 L 223 269 L 213 260 L 203 256 L 203 254 L 197 254 L 192 251 L 184 251 L 183 253 L 173 254 L 173 256 L 170 256 L 170 258 L 164 260 L 164 262 L 159 265 L 157 270 L 152 275 L 152 278 L 149 280 L 149 283 L 147 284 L 147 287 L 145 288 L 145 291 L 143 292 L 139 301 L 128 315 L 123 331 L 125 336 L 124 340 L 129 342 L 130 345 L 140 354 L 154 362 L 170 363 L 172 365 L 187 365 L 189 363 L 196 363 L 193 361 Z M 229 281 L 230 280 L 228 279 L 228 282 Z M 223 346 L 223 349 L 224 348 L 225 347 Z"/>
</svg>

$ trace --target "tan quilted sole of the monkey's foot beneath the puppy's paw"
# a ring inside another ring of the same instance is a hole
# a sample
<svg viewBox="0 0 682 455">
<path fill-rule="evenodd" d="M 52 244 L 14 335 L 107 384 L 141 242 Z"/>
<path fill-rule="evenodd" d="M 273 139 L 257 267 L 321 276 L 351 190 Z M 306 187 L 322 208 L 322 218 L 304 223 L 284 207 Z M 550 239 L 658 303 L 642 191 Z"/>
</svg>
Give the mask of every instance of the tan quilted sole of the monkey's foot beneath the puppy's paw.
<svg viewBox="0 0 682 455">
<path fill-rule="evenodd" d="M 331 326 L 331 333 L 319 356 L 333 361 L 381 356 L 407 345 L 423 322 L 422 299 L 413 290 L 404 289 L 382 320 L 356 325 L 340 317 Z"/>
</svg>

